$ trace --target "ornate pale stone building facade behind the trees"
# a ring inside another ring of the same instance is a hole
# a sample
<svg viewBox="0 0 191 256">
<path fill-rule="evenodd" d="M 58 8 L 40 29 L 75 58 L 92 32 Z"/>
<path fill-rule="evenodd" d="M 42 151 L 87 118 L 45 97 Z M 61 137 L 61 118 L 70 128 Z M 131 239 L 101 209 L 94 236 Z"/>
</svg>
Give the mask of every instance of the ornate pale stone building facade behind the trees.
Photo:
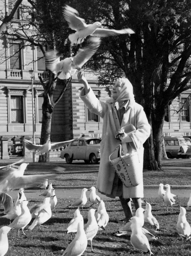
<svg viewBox="0 0 191 256">
<path fill-rule="evenodd" d="M 23 3 L 27 3 L 23 0 Z M 2 13 L 10 14 L 13 0 L 0 0 Z M 13 24 L 16 27 L 21 19 L 21 12 L 15 13 Z M 25 35 L 16 32 L 19 38 L 1 35 L 0 37 L 0 156 L 8 159 L 22 155 L 22 137 L 31 139 L 34 133 L 36 143 L 40 142 L 42 125 L 43 87 L 39 77 L 48 79 L 45 60 L 40 48 L 25 44 Z M 35 71 L 33 80 L 34 99 L 32 97 L 29 70 Z M 97 86 L 93 72 L 86 71 L 85 76 L 99 100 L 108 96 L 104 88 Z M 55 99 L 60 94 L 62 85 L 57 84 Z M 81 84 L 76 74 L 61 100 L 55 105 L 52 115 L 52 142 L 69 140 L 82 134 L 101 138 L 102 119 L 87 109 L 79 97 Z M 166 109 L 163 126 L 164 137 L 191 137 L 190 92 L 185 91 Z M 32 111 L 34 106 L 34 112 Z"/>
</svg>

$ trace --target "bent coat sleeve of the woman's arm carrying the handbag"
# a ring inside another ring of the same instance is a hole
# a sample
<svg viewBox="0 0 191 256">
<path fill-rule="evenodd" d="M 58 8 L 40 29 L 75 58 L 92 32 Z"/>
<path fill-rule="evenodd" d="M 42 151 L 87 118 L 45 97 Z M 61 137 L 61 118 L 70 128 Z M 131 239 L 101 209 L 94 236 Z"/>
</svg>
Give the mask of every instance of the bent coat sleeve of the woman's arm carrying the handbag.
<svg viewBox="0 0 191 256">
<path fill-rule="evenodd" d="M 135 119 L 137 129 L 135 132 L 132 132 L 130 137 L 133 138 L 137 148 L 140 148 L 151 133 L 151 126 L 148 123 L 148 119 L 142 106 L 135 110 Z"/>
</svg>

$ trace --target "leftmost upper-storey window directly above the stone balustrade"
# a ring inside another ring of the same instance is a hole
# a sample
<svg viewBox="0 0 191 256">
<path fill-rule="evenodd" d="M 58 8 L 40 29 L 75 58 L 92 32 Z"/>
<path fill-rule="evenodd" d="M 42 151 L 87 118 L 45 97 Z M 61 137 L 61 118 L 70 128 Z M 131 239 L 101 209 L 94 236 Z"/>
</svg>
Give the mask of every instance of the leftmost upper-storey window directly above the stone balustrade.
<svg viewBox="0 0 191 256">
<path fill-rule="evenodd" d="M 10 69 L 21 69 L 21 46 L 20 44 L 11 44 L 10 52 Z"/>
</svg>

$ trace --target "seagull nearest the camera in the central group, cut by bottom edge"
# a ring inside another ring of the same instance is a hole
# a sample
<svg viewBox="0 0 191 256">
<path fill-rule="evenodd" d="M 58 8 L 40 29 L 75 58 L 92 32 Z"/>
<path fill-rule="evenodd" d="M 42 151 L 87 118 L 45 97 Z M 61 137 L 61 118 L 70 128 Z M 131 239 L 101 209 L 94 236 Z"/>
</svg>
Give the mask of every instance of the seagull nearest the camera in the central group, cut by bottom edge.
<svg viewBox="0 0 191 256">
<path fill-rule="evenodd" d="M 81 256 L 87 248 L 87 237 L 84 231 L 84 220 L 78 223 L 78 229 L 75 238 L 67 246 L 66 250 L 62 254 L 69 256 Z"/>
</svg>

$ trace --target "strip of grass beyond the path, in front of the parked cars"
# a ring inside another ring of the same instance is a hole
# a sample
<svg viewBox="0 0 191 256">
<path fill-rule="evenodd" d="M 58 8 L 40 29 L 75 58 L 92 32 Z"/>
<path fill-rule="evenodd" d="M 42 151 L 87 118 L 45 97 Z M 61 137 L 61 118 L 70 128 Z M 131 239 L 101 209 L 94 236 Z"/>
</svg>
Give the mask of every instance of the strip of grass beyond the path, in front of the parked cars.
<svg viewBox="0 0 191 256">
<path fill-rule="evenodd" d="M 0 166 L 5 165 L 4 163 Z M 85 165 L 85 164 L 72 164 L 67 165 L 65 163 L 50 162 L 50 163 L 30 163 L 25 174 L 40 174 L 50 173 L 56 166 L 62 166 L 66 168 L 66 174 L 57 175 L 51 178 L 51 182 L 54 186 L 96 186 L 96 180 L 98 177 L 99 165 Z M 190 167 L 191 169 L 191 167 Z M 143 171 L 144 185 L 190 185 L 191 171 L 181 169 L 165 169 L 163 171 Z M 67 174 L 67 172 L 69 172 Z"/>
</svg>

